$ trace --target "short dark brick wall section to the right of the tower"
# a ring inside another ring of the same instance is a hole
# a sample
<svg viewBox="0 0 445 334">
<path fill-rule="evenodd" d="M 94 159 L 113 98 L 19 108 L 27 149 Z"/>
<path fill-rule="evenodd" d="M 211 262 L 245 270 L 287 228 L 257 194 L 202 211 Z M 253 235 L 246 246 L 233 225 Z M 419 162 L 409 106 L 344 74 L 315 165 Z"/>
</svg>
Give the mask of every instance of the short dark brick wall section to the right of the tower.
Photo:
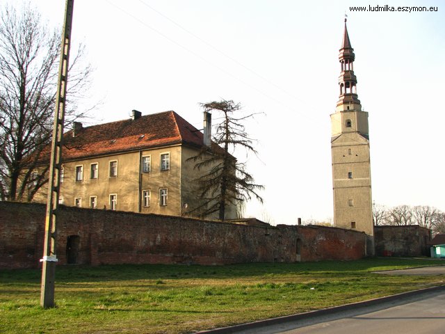
<svg viewBox="0 0 445 334">
<path fill-rule="evenodd" d="M 419 225 L 374 226 L 375 255 L 429 256 L 431 232 Z"/>
</svg>

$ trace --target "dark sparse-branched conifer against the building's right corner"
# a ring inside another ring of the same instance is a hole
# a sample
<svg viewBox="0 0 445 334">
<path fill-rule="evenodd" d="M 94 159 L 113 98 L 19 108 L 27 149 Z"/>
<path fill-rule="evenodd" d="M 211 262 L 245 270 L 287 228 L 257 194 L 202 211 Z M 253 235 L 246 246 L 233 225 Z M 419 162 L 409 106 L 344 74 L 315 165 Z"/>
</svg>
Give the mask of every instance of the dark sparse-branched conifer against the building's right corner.
<svg viewBox="0 0 445 334">
<path fill-rule="evenodd" d="M 188 159 L 195 162 L 197 170 L 204 170 L 204 175 L 197 179 L 200 205 L 192 208 L 191 213 L 209 216 L 218 212 L 220 220 L 224 221 L 228 205 L 239 207 L 239 202 L 250 200 L 252 196 L 262 202 L 257 191 L 264 189 L 264 186 L 254 184 L 252 175 L 245 170 L 245 164 L 231 154 L 239 147 L 257 154 L 242 124 L 243 120 L 251 118 L 253 114 L 234 116 L 241 110 L 241 105 L 232 100 L 209 102 L 201 106 L 204 111 L 222 113 L 223 121 L 216 125 L 212 147 L 203 147 L 199 154 Z"/>
</svg>

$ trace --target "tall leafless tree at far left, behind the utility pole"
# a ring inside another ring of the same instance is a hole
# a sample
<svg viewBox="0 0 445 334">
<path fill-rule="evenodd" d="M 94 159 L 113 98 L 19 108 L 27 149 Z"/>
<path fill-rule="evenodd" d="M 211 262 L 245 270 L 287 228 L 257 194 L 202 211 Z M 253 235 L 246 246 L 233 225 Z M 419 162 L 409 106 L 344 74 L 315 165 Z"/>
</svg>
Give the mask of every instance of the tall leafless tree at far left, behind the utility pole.
<svg viewBox="0 0 445 334">
<path fill-rule="evenodd" d="M 0 198 L 31 200 L 47 182 L 47 168 L 37 164 L 51 140 L 61 38 L 29 3 L 0 10 Z M 83 46 L 77 51 L 69 69 L 67 123 L 86 112 L 76 111 L 76 101 L 92 72 L 81 65 Z"/>
</svg>

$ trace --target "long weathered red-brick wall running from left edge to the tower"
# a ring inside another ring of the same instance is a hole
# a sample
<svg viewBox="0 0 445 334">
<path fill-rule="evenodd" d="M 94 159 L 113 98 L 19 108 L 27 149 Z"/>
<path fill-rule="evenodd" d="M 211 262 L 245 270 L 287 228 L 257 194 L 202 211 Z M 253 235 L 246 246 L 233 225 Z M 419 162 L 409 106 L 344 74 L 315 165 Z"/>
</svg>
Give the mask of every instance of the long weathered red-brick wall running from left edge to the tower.
<svg viewBox="0 0 445 334">
<path fill-rule="evenodd" d="M 38 267 L 44 205 L 0 202 L 0 267 Z M 353 260 L 364 233 L 320 226 L 252 226 L 192 218 L 60 206 L 58 264 L 70 239 L 77 264 L 229 264 Z M 71 257 L 72 260 L 72 257 Z"/>
</svg>

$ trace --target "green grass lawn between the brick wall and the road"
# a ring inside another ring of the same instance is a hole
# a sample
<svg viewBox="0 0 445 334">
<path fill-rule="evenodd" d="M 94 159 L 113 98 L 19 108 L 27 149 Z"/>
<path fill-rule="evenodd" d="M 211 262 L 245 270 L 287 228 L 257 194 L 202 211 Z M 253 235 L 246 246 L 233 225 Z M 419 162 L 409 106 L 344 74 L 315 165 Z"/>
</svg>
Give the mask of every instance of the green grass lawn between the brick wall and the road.
<svg viewBox="0 0 445 334">
<path fill-rule="evenodd" d="M 40 270 L 0 271 L 1 333 L 193 333 L 414 289 L 444 276 L 387 276 L 375 270 L 433 260 L 60 266 L 56 308 L 40 308 Z"/>
</svg>

